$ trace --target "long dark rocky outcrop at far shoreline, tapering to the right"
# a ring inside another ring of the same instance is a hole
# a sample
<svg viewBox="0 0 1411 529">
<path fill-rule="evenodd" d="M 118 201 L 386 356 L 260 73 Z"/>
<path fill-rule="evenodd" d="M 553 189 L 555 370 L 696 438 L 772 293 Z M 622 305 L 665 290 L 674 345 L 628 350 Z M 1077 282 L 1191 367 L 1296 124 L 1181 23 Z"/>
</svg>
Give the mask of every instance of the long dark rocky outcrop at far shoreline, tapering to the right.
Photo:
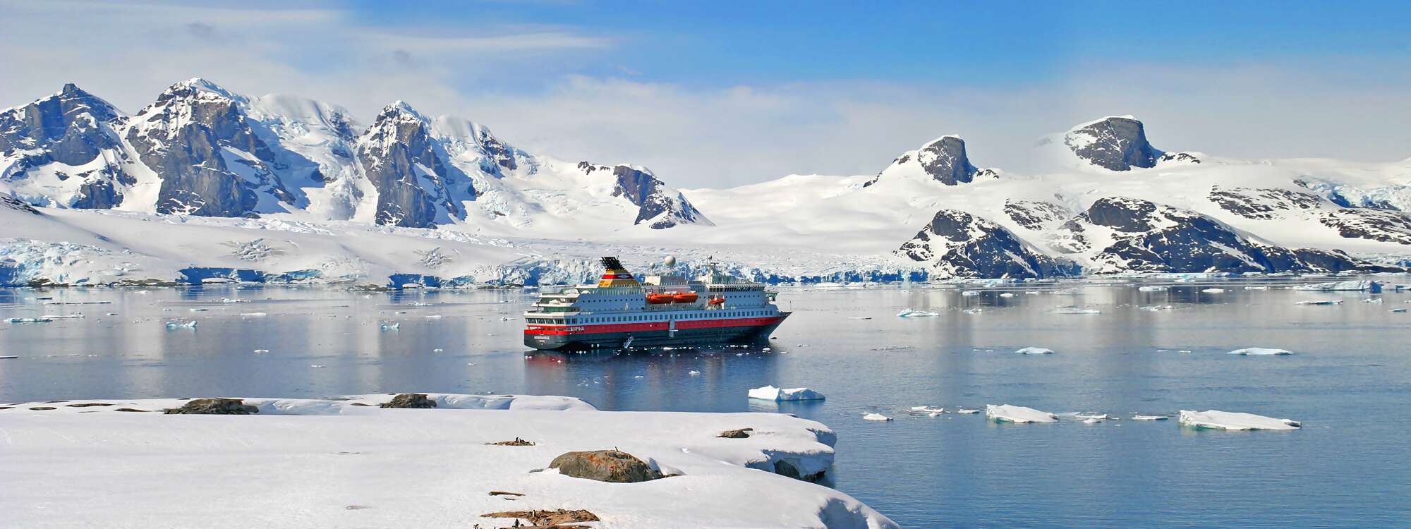
<svg viewBox="0 0 1411 529">
<path fill-rule="evenodd" d="M 1091 250 L 1086 226 L 1113 231 L 1095 272 L 1331 272 L 1380 268 L 1335 251 L 1253 243 L 1204 214 L 1130 197 L 1103 197 L 1060 230 L 1055 247 Z"/>
</svg>

